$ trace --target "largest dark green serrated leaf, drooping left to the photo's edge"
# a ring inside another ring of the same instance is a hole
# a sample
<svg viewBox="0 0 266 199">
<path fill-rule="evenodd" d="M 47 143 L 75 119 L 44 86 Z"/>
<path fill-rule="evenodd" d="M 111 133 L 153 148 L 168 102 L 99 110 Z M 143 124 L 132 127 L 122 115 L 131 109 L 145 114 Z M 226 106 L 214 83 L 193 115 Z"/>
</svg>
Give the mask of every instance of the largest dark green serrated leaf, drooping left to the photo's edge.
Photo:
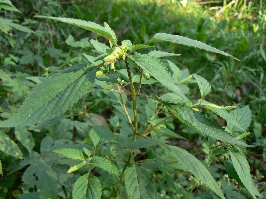
<svg viewBox="0 0 266 199">
<path fill-rule="evenodd" d="M 32 89 L 18 113 L 0 122 L 0 127 L 34 124 L 65 113 L 90 88 L 95 73 L 93 68 L 81 63 L 47 77 Z"/>
</svg>

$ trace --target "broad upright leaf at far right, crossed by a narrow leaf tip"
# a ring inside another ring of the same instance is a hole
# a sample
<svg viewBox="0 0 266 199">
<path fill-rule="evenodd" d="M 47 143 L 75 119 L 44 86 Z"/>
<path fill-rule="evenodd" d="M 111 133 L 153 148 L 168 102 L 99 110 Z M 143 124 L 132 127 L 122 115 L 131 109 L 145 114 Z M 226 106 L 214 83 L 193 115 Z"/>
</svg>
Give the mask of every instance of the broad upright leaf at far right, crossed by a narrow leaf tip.
<svg viewBox="0 0 266 199">
<path fill-rule="evenodd" d="M 233 118 L 236 119 L 236 121 L 240 124 L 240 126 L 243 129 L 247 129 L 250 126 L 251 123 L 251 111 L 249 109 L 249 105 L 236 109 L 230 112 L 230 115 L 233 116 Z M 230 124 L 229 122 L 227 123 L 227 126 L 232 129 L 232 131 L 239 131 L 240 129 L 237 128 L 236 126 Z"/>
</svg>

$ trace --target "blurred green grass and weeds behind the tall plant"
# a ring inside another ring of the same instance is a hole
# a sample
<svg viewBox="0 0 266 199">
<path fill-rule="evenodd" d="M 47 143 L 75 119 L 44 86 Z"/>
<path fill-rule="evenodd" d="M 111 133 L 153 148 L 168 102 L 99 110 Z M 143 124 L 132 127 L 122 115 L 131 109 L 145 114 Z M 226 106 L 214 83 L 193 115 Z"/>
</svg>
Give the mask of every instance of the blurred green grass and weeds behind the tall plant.
<svg viewBox="0 0 266 199">
<path fill-rule="evenodd" d="M 159 50 L 161 48 L 169 53 L 182 54 L 180 57 L 169 59 L 180 69 L 189 68 L 190 73 L 197 73 L 210 82 L 212 92 L 207 96 L 207 101 L 226 106 L 250 106 L 252 123 L 247 132 L 251 134 L 245 141 L 247 144 L 260 145 L 247 149 L 246 155 L 251 165 L 254 182 L 259 191 L 263 195 L 266 194 L 266 45 L 264 41 L 266 7 L 263 1 L 20 0 L 12 3 L 20 12 L 4 9 L 0 11 L 0 17 L 9 20 L 0 21 L 2 30 L 0 33 L 0 118 L 2 120 L 10 118 L 16 112 L 30 90 L 42 80 L 41 77 L 48 77 L 76 63 L 87 62 L 82 53 L 94 55 L 91 51 L 94 48 L 89 39 L 107 42 L 103 37 L 98 37 L 92 32 L 55 21 L 36 20 L 33 19 L 34 15 L 69 17 L 94 21 L 98 24 L 107 22 L 121 41 L 130 39 L 135 44 L 147 42 L 157 32 L 196 39 L 232 54 L 241 62 L 172 43 L 164 42 L 155 45 Z M 25 27 L 34 32 L 23 29 Z M 145 92 L 153 93 L 154 96 L 160 95 L 163 93 L 163 88 L 159 85 L 147 85 Z M 200 96 L 196 87 L 195 89 L 191 87 L 189 94 Z M 104 93 L 89 95 L 90 102 L 82 102 L 90 107 L 89 113 L 97 114 L 98 120 L 111 126 L 113 131 L 123 131 L 123 120 L 117 117 L 119 110 L 113 109 L 111 100 L 109 102 L 102 100 L 108 96 Z M 80 144 L 86 143 L 88 137 L 85 140 L 79 137 L 80 132 L 85 129 L 74 123 L 75 120 L 86 120 L 82 109 L 84 108 L 77 104 L 66 113 L 66 117 L 71 118 L 72 123 L 62 119 L 54 121 L 53 126 L 42 130 L 32 128 L 30 132 L 34 151 L 40 152 L 40 143 L 43 140 L 47 141 L 47 136 L 53 137 L 54 140 L 64 138 Z M 78 114 L 83 114 L 84 117 L 79 118 Z M 211 113 L 205 111 L 203 114 Z M 216 123 L 225 126 L 225 120 L 215 115 L 211 116 L 215 118 Z M 198 159 L 209 166 L 211 174 L 221 179 L 222 190 L 226 193 L 226 197 L 250 197 L 249 193 L 235 180 L 224 175 L 221 163 L 209 162 L 208 156 L 202 151 L 205 137 L 176 119 L 167 125 L 186 139 L 172 139 L 172 142 L 178 146 L 182 145 L 193 154 L 198 153 Z M 21 132 L 23 131 L 24 129 L 21 129 Z M 19 132 L 13 132 L 11 128 L 6 133 L 13 138 L 18 136 L 16 133 Z M 14 141 L 17 142 L 17 140 Z M 49 154 L 46 158 L 50 155 L 57 154 Z M 143 155 L 146 155 L 145 158 L 148 156 L 147 153 Z M 23 192 L 22 174 L 27 171 L 27 167 L 21 167 L 20 170 L 7 175 L 7 171 L 15 167 L 16 163 L 4 153 L 0 153 L 0 159 L 3 167 L 0 198 L 18 198 L 18 194 Z M 38 167 L 37 163 L 38 161 L 34 163 L 36 167 Z M 74 176 L 73 178 L 75 180 Z M 188 178 L 182 173 L 174 178 L 182 182 L 181 185 L 184 187 L 182 193 L 183 196 L 187 196 L 186 198 L 216 197 L 213 194 L 204 195 L 201 186 L 194 187 L 195 184 L 199 185 L 196 179 Z M 69 184 L 65 189 L 71 189 L 71 186 Z M 156 184 L 156 187 L 159 189 L 158 196 L 170 197 L 167 195 L 171 195 L 171 191 L 166 184 Z M 108 198 L 107 192 L 104 193 L 106 198 Z"/>
</svg>

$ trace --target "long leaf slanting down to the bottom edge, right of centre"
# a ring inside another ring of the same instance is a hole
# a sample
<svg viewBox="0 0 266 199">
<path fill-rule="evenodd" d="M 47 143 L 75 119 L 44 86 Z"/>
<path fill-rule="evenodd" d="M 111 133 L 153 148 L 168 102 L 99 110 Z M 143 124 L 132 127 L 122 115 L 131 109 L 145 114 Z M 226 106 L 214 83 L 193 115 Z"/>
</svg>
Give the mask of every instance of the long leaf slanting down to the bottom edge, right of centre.
<svg viewBox="0 0 266 199">
<path fill-rule="evenodd" d="M 207 168 L 201 163 L 201 161 L 199 161 L 194 155 L 187 152 L 185 149 L 182 149 L 178 146 L 171 146 L 171 145 L 165 145 L 165 146 L 167 146 L 171 150 L 174 157 L 178 160 L 178 162 L 182 166 L 188 168 L 197 179 L 201 180 L 204 184 L 208 185 L 208 187 L 212 191 L 214 191 L 218 196 L 225 199 L 221 188 L 214 180 L 210 172 L 207 170 Z"/>
</svg>

